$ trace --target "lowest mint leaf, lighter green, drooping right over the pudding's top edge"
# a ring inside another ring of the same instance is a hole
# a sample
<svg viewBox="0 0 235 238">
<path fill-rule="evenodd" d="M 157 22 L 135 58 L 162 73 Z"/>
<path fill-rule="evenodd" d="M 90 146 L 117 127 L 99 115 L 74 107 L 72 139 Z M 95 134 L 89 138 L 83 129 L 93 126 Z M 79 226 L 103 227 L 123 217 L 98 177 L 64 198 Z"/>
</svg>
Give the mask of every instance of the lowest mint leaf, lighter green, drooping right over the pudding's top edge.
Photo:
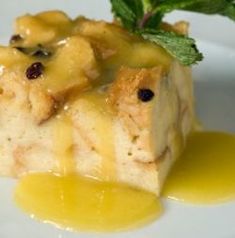
<svg viewBox="0 0 235 238">
<path fill-rule="evenodd" d="M 174 32 L 151 29 L 139 31 L 139 34 L 144 39 L 163 47 L 183 65 L 189 66 L 203 59 L 202 54 L 195 45 L 195 40 L 187 36 L 178 35 Z"/>
</svg>

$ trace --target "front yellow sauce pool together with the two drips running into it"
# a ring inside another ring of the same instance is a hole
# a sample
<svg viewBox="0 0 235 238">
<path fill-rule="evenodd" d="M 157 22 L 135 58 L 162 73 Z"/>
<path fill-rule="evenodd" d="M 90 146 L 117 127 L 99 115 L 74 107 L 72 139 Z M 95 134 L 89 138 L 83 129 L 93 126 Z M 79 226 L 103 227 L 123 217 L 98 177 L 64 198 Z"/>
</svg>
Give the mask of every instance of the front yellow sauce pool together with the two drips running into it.
<svg viewBox="0 0 235 238">
<path fill-rule="evenodd" d="M 54 172 L 60 176 L 43 173 L 21 178 L 15 193 L 18 206 L 39 220 L 69 230 L 117 231 L 157 219 L 162 206 L 154 194 L 114 182 L 113 122 L 106 94 L 92 90 L 76 100 L 86 102 L 86 110 L 93 113 L 89 116 L 95 118 L 94 130 L 99 136 L 96 150 L 102 156 L 101 167 L 97 168 L 100 180 L 75 174 L 73 122 L 68 105 L 53 128 Z"/>
</svg>

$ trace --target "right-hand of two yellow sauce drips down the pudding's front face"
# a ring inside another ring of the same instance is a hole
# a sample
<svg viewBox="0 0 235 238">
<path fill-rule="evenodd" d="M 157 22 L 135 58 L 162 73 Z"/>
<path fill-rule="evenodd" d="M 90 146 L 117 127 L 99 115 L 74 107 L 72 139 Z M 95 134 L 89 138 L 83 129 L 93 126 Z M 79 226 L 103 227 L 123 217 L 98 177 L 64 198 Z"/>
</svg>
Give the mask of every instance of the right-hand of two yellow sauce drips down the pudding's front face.
<svg viewBox="0 0 235 238">
<path fill-rule="evenodd" d="M 101 166 L 98 178 L 103 181 L 116 181 L 116 157 L 114 146 L 113 111 L 107 103 L 107 93 L 93 89 L 84 93 L 81 98 L 86 100 L 86 110 L 90 108 L 90 115 L 94 123 L 94 132 L 98 137 L 96 151 L 101 155 Z"/>
</svg>

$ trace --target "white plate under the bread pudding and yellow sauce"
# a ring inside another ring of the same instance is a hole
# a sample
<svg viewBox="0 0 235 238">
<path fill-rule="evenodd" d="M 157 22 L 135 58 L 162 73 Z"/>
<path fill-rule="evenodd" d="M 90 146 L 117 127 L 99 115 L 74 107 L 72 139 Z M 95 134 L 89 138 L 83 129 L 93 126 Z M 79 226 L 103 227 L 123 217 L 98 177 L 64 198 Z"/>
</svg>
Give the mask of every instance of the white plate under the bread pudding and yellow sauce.
<svg viewBox="0 0 235 238">
<path fill-rule="evenodd" d="M 1 2 L 0 39 L 6 43 L 13 19 L 26 12 L 61 9 L 111 19 L 108 0 L 11 0 Z M 192 35 L 205 60 L 195 67 L 197 112 L 209 129 L 235 132 L 235 24 L 222 17 L 176 12 L 168 20 L 190 20 Z M 234 238 L 235 203 L 192 206 L 164 201 L 165 214 L 155 223 L 136 231 L 116 234 L 82 234 L 58 230 L 30 219 L 12 202 L 15 181 L 0 178 L 0 238 Z"/>
</svg>

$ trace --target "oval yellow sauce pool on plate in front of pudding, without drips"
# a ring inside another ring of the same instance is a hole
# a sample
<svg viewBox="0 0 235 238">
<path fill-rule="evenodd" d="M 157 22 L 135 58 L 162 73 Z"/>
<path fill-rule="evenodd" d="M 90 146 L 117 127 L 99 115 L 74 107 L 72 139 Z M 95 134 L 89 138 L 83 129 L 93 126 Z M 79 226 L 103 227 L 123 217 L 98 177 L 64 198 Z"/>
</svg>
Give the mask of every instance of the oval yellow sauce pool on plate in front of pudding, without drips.
<svg viewBox="0 0 235 238">
<path fill-rule="evenodd" d="M 154 194 L 77 175 L 27 175 L 17 186 L 15 200 L 37 219 L 71 230 L 130 229 L 162 213 Z"/>
</svg>

